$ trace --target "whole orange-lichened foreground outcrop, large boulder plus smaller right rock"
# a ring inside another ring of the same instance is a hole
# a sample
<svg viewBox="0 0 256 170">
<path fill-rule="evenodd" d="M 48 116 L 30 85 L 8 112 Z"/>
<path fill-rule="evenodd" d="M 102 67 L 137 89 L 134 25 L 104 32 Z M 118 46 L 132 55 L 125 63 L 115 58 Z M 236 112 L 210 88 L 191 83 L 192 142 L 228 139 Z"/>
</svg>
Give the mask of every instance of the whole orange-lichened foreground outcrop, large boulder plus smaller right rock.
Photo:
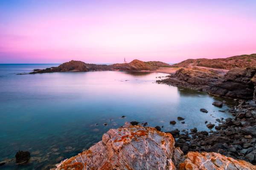
<svg viewBox="0 0 256 170">
<path fill-rule="evenodd" d="M 56 170 L 256 170 L 253 164 L 219 153 L 184 155 L 170 133 L 130 123 L 109 130 L 102 141 L 56 166 Z"/>
</svg>

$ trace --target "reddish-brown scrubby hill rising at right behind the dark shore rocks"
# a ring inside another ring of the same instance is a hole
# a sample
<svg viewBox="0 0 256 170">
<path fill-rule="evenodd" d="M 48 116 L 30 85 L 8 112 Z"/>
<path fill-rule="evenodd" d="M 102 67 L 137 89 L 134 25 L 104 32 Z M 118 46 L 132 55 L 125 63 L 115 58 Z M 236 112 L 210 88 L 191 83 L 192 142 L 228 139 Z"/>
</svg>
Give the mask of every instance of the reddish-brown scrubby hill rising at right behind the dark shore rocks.
<svg viewBox="0 0 256 170">
<path fill-rule="evenodd" d="M 186 59 L 183 62 L 171 65 L 172 67 L 189 67 L 189 66 L 202 66 L 209 68 L 244 68 L 256 67 L 256 54 L 233 56 L 228 58 L 218 59 Z"/>
</svg>

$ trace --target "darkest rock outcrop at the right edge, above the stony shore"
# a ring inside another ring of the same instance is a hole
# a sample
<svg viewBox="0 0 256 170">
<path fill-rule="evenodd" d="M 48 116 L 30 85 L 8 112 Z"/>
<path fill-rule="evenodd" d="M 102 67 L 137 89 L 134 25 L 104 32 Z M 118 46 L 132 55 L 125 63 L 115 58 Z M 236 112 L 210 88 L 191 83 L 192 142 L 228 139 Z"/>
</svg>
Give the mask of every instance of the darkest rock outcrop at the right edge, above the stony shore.
<svg viewBox="0 0 256 170">
<path fill-rule="evenodd" d="M 253 99 L 256 68 L 234 68 L 209 88 L 209 93 L 237 99 Z"/>
</svg>

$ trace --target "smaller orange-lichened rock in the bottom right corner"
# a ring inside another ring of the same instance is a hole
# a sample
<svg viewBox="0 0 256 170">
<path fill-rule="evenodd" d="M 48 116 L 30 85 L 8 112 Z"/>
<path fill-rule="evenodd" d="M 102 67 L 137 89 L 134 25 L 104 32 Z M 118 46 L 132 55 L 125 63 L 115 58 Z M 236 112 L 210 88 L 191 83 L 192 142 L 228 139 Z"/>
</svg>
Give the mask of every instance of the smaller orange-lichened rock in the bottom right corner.
<svg viewBox="0 0 256 170">
<path fill-rule="evenodd" d="M 180 170 L 256 170 L 256 166 L 246 161 L 235 160 L 219 153 L 189 152 Z"/>
</svg>

